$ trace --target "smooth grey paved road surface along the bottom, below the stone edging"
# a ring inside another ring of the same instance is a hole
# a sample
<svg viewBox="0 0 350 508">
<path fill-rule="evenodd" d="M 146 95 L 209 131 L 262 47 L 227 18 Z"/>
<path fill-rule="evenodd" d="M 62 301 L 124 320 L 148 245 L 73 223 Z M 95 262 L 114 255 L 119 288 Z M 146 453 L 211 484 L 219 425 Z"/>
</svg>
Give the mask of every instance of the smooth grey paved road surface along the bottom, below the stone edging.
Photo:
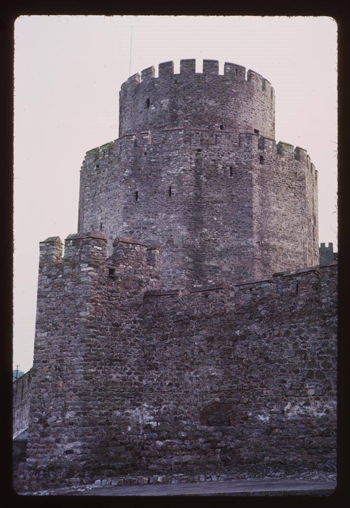
<svg viewBox="0 0 350 508">
<path fill-rule="evenodd" d="M 335 482 L 306 480 L 231 480 L 126 487 L 96 487 L 74 496 L 325 496 L 333 494 Z"/>
</svg>

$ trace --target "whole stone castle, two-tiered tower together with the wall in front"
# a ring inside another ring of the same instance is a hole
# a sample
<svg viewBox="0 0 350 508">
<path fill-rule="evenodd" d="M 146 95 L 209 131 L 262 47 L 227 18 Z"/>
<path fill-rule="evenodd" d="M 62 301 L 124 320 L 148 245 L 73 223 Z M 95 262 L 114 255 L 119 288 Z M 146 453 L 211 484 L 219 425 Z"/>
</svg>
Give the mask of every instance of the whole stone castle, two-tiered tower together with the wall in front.
<svg viewBox="0 0 350 508">
<path fill-rule="evenodd" d="M 233 63 L 131 76 L 78 233 L 40 244 L 18 488 L 335 471 L 336 263 L 317 171 Z M 18 431 L 20 429 L 17 429 Z"/>
</svg>

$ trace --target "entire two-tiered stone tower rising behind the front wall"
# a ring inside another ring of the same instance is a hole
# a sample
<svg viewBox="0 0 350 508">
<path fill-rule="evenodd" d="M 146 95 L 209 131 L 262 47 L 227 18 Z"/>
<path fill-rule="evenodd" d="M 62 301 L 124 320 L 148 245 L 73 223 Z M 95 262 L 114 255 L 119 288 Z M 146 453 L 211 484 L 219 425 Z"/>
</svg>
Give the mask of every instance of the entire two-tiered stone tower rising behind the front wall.
<svg viewBox="0 0 350 508">
<path fill-rule="evenodd" d="M 274 90 L 234 63 L 181 60 L 131 76 L 119 138 L 87 152 L 78 231 L 162 250 L 164 288 L 316 265 L 317 171 L 274 141 Z"/>
</svg>

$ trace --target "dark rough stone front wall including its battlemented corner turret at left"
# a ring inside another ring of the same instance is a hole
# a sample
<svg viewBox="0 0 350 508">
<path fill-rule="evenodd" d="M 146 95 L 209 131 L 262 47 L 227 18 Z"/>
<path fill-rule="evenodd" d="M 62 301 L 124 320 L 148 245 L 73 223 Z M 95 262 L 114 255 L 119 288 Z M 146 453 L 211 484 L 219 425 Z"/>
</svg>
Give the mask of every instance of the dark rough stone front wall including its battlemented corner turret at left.
<svg viewBox="0 0 350 508">
<path fill-rule="evenodd" d="M 335 263 L 163 291 L 157 246 L 62 247 L 41 243 L 19 490 L 335 471 Z"/>
</svg>

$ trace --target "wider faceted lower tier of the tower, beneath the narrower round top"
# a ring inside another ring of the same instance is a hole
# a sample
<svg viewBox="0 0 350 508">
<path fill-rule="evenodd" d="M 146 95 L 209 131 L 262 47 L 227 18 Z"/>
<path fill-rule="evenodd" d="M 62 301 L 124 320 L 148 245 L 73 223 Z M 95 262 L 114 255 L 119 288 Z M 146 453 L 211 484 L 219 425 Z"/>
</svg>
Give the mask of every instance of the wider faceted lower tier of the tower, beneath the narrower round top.
<svg viewBox="0 0 350 508">
<path fill-rule="evenodd" d="M 318 264 L 317 171 L 258 133 L 190 127 L 87 152 L 78 231 L 162 250 L 161 285 L 236 282 Z"/>
</svg>

